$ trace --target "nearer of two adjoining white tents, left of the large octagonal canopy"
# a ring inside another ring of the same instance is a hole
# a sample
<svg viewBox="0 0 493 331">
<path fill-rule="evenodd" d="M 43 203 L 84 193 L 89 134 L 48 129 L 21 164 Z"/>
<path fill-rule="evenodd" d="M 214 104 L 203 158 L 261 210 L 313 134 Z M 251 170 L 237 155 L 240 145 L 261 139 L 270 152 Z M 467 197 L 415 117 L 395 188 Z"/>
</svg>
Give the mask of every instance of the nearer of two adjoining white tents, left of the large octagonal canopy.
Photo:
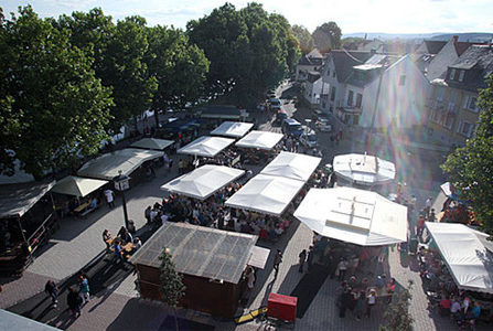
<svg viewBox="0 0 493 331">
<path fill-rule="evenodd" d="M 231 207 L 279 216 L 303 186 L 302 181 L 257 174 L 226 200 Z"/>
</svg>

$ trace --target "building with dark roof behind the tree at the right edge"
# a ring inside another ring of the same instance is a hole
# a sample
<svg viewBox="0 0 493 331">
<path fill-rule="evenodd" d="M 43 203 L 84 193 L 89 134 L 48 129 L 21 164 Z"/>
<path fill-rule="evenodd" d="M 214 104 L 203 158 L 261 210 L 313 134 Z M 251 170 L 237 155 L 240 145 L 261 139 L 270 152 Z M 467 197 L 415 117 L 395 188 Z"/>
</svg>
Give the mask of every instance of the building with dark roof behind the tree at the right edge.
<svg viewBox="0 0 493 331">
<path fill-rule="evenodd" d="M 471 45 L 441 77 L 431 82 L 427 103 L 430 136 L 443 146 L 463 146 L 479 119 L 479 89 L 493 72 L 493 47 Z"/>
</svg>

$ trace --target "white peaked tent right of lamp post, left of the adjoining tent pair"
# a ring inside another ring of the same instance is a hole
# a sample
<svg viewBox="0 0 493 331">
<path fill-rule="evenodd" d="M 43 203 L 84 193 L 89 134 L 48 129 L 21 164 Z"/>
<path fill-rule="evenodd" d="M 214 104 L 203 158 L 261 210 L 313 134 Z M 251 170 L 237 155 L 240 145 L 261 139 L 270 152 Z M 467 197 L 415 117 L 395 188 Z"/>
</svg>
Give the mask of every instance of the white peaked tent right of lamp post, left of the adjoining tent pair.
<svg viewBox="0 0 493 331">
<path fill-rule="evenodd" d="M 240 169 L 205 164 L 192 172 L 169 181 L 162 185 L 161 189 L 205 200 L 231 181 L 242 177 L 244 173 L 245 170 Z"/>
</svg>

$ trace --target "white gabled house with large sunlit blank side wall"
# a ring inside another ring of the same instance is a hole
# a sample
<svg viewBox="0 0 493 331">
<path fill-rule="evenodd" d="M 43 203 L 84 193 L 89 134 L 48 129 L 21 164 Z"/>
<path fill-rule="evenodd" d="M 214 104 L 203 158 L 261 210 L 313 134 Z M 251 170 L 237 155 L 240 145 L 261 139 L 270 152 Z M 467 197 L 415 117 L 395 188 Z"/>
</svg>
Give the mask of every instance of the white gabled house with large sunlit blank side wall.
<svg viewBox="0 0 493 331">
<path fill-rule="evenodd" d="M 331 52 L 322 71 L 322 109 L 365 128 L 421 124 L 429 82 L 410 56 L 342 52 Z"/>
</svg>

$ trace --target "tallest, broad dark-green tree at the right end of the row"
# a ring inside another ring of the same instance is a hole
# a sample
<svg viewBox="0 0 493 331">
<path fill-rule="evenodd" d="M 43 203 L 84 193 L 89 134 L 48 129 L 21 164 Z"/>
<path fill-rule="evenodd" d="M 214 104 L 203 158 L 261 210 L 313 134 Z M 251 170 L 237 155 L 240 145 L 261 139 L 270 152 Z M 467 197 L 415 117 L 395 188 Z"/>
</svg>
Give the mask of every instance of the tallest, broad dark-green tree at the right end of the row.
<svg viewBox="0 0 493 331">
<path fill-rule="evenodd" d="M 186 33 L 211 61 L 211 93 L 226 94 L 243 106 L 253 106 L 262 98 L 300 56 L 288 21 L 269 14 L 258 3 L 239 11 L 226 3 L 189 22 Z"/>
</svg>

